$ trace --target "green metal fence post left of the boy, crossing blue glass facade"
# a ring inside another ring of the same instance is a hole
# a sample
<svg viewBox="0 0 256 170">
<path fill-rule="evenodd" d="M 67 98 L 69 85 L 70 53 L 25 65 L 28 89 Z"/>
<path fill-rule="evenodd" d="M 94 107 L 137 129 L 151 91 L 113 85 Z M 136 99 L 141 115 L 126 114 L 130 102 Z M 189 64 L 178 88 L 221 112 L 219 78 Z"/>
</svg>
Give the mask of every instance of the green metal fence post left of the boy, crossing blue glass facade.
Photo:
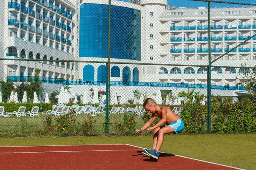
<svg viewBox="0 0 256 170">
<path fill-rule="evenodd" d="M 106 80 L 106 122 L 105 133 L 109 133 L 109 102 L 110 102 L 110 27 L 111 26 L 111 0 L 108 0 L 108 63 Z"/>
</svg>

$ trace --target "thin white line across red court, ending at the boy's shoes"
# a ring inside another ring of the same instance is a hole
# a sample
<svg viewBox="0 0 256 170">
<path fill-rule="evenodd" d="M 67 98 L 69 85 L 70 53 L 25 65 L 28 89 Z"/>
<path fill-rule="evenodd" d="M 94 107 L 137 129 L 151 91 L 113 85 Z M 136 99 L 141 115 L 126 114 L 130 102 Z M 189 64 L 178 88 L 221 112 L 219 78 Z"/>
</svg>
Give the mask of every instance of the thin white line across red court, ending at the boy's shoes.
<svg viewBox="0 0 256 170">
<path fill-rule="evenodd" d="M 142 149 L 122 149 L 122 150 L 65 150 L 65 151 L 38 151 L 38 152 L 0 152 L 0 154 L 13 154 L 13 153 L 62 153 L 62 152 L 103 152 L 103 151 L 132 151 Z"/>
</svg>

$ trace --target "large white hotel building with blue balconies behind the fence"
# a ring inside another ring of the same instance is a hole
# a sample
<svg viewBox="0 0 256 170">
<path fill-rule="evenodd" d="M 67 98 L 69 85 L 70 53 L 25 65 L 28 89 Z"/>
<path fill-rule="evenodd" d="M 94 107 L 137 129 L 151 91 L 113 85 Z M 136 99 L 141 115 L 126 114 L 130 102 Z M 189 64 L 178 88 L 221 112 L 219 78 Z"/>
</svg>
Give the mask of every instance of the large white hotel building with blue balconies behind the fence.
<svg viewBox="0 0 256 170">
<path fill-rule="evenodd" d="M 59 60 L 1 60 L 1 79 L 26 81 L 39 68 L 46 83 L 60 83 L 55 79 L 61 78 L 69 80 L 61 83 L 73 86 L 73 91 L 104 88 L 105 64 L 61 60 L 107 61 L 108 0 L 77 0 L 76 4 L 67 0 L 3 0 L 0 5 L 2 58 Z M 133 94 L 138 86 L 146 86 L 140 91 L 152 96 L 166 90 L 177 94 L 189 87 L 206 94 L 204 67 L 125 63 L 208 65 L 207 8 L 175 8 L 168 6 L 167 0 L 112 0 L 111 5 L 111 62 L 124 63 L 111 65 L 113 91 L 116 88 L 119 93 Z M 256 8 L 211 9 L 212 60 L 254 34 Z M 214 62 L 222 67 L 212 68 L 213 94 L 241 93 L 236 87 L 241 70 L 225 66 L 239 67 L 242 63 L 256 65 L 256 37 Z"/>
</svg>

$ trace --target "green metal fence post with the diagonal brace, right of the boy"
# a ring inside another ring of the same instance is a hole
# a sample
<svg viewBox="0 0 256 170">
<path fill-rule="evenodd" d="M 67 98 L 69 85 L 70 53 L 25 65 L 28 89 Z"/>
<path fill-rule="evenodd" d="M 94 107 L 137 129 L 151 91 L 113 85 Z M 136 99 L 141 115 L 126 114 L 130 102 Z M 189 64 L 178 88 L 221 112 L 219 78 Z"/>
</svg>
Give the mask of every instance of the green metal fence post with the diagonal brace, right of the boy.
<svg viewBox="0 0 256 170">
<path fill-rule="evenodd" d="M 208 2 L 207 133 L 211 133 L 211 5 Z"/>
</svg>

